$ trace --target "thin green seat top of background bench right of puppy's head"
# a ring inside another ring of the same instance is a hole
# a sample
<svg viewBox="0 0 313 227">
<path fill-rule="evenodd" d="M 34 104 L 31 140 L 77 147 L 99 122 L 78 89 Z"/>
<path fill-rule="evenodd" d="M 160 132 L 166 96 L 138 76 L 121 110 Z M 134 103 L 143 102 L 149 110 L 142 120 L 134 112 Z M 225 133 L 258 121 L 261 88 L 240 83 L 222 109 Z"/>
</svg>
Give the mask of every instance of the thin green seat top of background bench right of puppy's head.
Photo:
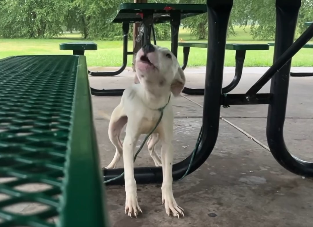
<svg viewBox="0 0 313 227">
<path fill-rule="evenodd" d="M 208 48 L 208 43 L 179 42 L 180 47 Z M 269 50 L 268 44 L 226 43 L 226 50 Z"/>
</svg>

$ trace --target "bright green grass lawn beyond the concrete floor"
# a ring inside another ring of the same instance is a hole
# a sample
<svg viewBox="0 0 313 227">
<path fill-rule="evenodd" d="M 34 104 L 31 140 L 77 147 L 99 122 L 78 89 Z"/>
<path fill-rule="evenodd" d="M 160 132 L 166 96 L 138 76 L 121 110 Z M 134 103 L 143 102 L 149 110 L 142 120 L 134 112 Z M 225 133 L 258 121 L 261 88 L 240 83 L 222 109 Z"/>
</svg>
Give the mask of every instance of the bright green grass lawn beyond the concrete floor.
<svg viewBox="0 0 313 227">
<path fill-rule="evenodd" d="M 246 31 L 247 32 L 246 32 Z M 228 43 L 268 43 L 269 41 L 254 41 L 249 35 L 249 29 L 236 28 L 237 35 L 228 37 Z M 180 29 L 179 40 L 198 41 L 188 31 Z M 0 58 L 14 55 L 38 54 L 70 54 L 71 51 L 60 51 L 59 43 L 80 41 L 80 34 L 65 34 L 56 39 L 0 39 Z M 86 51 L 88 66 L 120 66 L 122 63 L 122 41 L 93 40 L 98 44 L 97 51 Z M 170 41 L 157 41 L 157 44 L 170 48 Z M 132 41 L 128 42 L 128 50 L 132 50 Z M 274 47 L 268 51 L 247 51 L 244 66 L 270 66 L 273 61 Z M 292 66 L 313 66 L 313 49 L 301 49 L 292 59 Z M 205 66 L 207 50 L 191 48 L 188 66 Z M 178 48 L 178 60 L 182 64 L 182 47 Z M 131 66 L 132 56 L 128 56 L 128 66 Z M 226 50 L 225 66 L 235 66 L 235 51 Z"/>
</svg>

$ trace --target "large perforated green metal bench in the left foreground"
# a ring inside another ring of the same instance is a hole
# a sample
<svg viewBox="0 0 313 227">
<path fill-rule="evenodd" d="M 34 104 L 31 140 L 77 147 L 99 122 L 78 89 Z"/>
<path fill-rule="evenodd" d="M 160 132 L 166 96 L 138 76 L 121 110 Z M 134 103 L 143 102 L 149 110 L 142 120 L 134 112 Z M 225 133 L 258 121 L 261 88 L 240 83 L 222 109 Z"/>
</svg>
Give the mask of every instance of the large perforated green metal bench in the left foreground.
<svg viewBox="0 0 313 227">
<path fill-rule="evenodd" d="M 14 178 L 0 184 L 1 227 L 108 226 L 87 75 L 83 55 L 0 60 L 0 175 Z M 36 183 L 49 188 L 17 188 Z M 47 208 L 10 210 L 20 203 Z"/>
</svg>

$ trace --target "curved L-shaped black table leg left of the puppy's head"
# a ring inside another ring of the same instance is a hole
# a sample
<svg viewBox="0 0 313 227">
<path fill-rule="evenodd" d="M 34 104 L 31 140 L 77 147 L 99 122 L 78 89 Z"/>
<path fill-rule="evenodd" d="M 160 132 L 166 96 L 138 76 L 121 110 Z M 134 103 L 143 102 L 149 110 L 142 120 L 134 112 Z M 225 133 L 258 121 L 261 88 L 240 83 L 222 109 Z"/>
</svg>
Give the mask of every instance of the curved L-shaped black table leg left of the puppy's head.
<svg viewBox="0 0 313 227">
<path fill-rule="evenodd" d="M 129 31 L 129 23 L 123 23 L 123 63 L 119 70 L 114 72 L 92 72 L 88 70 L 88 73 L 91 76 L 115 76 L 124 71 L 127 65 L 127 54 L 133 54 L 132 52 L 127 51 L 127 43 L 128 43 L 128 31 Z M 101 91 L 101 90 L 100 90 Z M 96 95 L 96 94 L 94 94 Z"/>
</svg>

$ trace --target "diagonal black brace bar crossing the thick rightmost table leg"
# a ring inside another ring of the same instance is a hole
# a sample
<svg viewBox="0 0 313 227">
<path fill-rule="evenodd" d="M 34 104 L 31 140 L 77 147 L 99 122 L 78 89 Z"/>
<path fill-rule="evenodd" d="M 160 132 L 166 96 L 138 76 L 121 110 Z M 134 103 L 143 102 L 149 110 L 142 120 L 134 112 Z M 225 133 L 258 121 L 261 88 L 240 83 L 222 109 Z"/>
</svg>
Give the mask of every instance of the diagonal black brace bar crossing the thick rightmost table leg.
<svg viewBox="0 0 313 227">
<path fill-rule="evenodd" d="M 287 1 L 289 2 L 289 1 Z M 276 26 L 277 28 L 277 26 Z M 276 34 L 277 36 L 278 34 Z M 264 75 L 247 91 L 246 94 L 256 94 L 265 83 L 267 83 L 273 75 L 279 71 L 286 63 L 291 64 L 291 58 L 313 37 L 313 24 L 305 30 L 300 37 L 288 46 L 284 53 L 279 55 L 279 58 L 275 58 L 275 63 L 264 73 Z M 275 43 L 275 49 L 277 43 Z M 290 70 L 288 76 L 290 75 Z"/>
</svg>

